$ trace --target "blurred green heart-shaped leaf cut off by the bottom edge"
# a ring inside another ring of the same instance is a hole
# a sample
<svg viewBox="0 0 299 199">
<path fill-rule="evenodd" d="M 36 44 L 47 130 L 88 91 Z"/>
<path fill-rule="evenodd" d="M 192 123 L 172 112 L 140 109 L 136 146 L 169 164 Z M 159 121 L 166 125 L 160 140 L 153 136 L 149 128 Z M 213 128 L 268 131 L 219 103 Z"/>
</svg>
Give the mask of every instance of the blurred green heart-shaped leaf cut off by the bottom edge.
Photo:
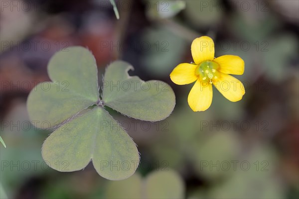
<svg viewBox="0 0 299 199">
<path fill-rule="evenodd" d="M 184 183 L 172 170 L 152 172 L 145 179 L 135 174 L 124 181 L 110 182 L 106 189 L 109 199 L 182 199 Z"/>
</svg>

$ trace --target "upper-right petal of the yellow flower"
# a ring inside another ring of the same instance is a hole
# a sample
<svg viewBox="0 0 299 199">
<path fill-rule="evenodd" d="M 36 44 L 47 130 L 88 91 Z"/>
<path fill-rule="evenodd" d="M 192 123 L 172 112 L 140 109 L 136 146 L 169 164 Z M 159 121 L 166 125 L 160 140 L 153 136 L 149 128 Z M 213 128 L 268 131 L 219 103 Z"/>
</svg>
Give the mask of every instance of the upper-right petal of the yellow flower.
<svg viewBox="0 0 299 199">
<path fill-rule="evenodd" d="M 242 75 L 244 73 L 244 61 L 236 55 L 223 55 L 214 59 L 219 64 L 217 69 L 225 74 Z"/>
</svg>

